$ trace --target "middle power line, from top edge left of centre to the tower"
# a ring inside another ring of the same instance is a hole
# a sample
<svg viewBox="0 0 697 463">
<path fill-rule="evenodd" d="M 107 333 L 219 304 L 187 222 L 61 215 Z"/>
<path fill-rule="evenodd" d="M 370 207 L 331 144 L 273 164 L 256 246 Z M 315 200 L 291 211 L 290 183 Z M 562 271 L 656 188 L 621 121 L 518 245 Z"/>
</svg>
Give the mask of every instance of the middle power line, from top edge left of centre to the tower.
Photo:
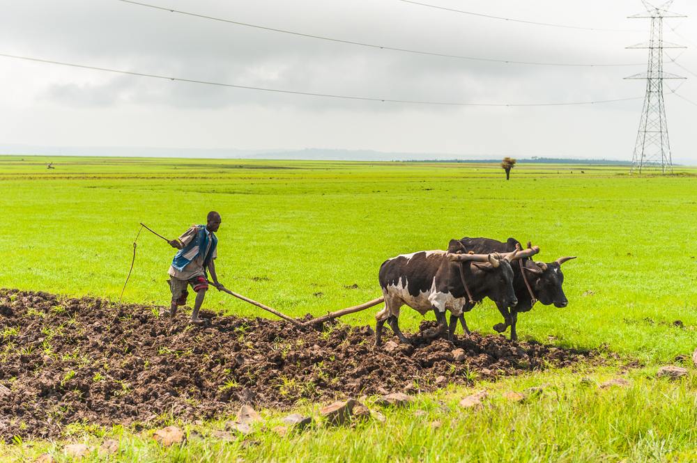
<svg viewBox="0 0 697 463">
<path fill-rule="evenodd" d="M 422 54 L 422 55 L 429 55 L 429 56 L 441 56 L 443 58 L 458 58 L 458 59 L 468 59 L 468 60 L 473 60 L 473 61 L 489 61 L 491 63 L 508 63 L 508 64 L 528 64 L 528 65 L 542 65 L 542 66 L 573 66 L 573 67 L 585 67 L 585 68 L 600 68 L 600 67 L 615 67 L 615 66 L 638 66 L 638 65 L 643 65 L 643 63 L 629 63 L 629 64 L 566 64 L 566 63 L 535 63 L 535 62 L 530 62 L 530 61 L 511 61 L 511 60 L 505 60 L 505 59 L 490 59 L 490 58 L 474 58 L 472 56 L 459 56 L 459 55 L 452 55 L 452 54 L 445 54 L 445 53 L 433 53 L 433 52 L 420 52 L 419 50 L 411 50 L 411 49 L 404 49 L 404 48 L 395 48 L 395 47 L 385 47 L 384 45 L 374 45 L 370 43 L 363 43 L 363 42 L 353 42 L 351 40 L 341 40 L 338 38 L 329 38 L 329 37 L 322 37 L 322 36 L 313 36 L 311 34 L 306 34 L 306 33 L 300 33 L 300 32 L 293 32 L 293 31 L 285 31 L 283 29 L 274 29 L 273 27 L 266 27 L 266 26 L 257 26 L 256 24 L 247 24 L 245 22 L 238 22 L 238 21 L 232 21 L 231 19 L 222 19 L 219 17 L 213 17 L 213 16 L 206 16 L 206 15 L 199 15 L 197 13 L 188 13 L 186 11 L 181 11 L 181 10 L 172 10 L 171 8 L 163 8 L 162 6 L 155 6 L 155 5 L 149 5 L 148 3 L 140 3 L 138 1 L 132 1 L 132 0 L 118 0 L 122 1 L 123 3 L 131 3 L 132 5 L 138 5 L 138 6 L 145 6 L 147 8 L 154 8 L 155 10 L 163 10 L 163 11 L 169 11 L 170 13 L 179 13 L 180 15 L 187 15 L 187 16 L 192 16 L 192 17 L 199 17 L 202 19 L 210 19 L 211 21 L 218 21 L 218 22 L 227 22 L 228 24 L 236 24 L 238 26 L 245 26 L 245 27 L 252 27 L 254 29 L 262 29 L 264 31 L 273 31 L 273 32 L 280 32 L 280 33 L 286 33 L 286 34 L 291 34 L 292 36 L 300 36 L 300 37 L 307 37 L 307 38 L 316 38 L 319 40 L 328 40 L 330 42 L 338 42 L 338 43 L 346 43 L 348 45 L 359 45 L 360 47 L 370 47 L 370 48 L 379 48 L 379 49 L 385 49 L 385 50 L 392 50 L 393 52 L 404 52 L 404 53 L 414 53 L 414 54 Z"/>
</svg>

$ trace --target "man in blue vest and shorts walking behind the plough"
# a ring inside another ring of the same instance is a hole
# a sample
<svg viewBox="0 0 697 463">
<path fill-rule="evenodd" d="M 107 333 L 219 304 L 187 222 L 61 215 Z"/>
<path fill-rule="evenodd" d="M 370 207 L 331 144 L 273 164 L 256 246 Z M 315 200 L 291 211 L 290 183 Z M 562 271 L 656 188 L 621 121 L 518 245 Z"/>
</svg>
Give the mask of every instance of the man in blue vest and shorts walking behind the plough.
<svg viewBox="0 0 697 463">
<path fill-rule="evenodd" d="M 213 285 L 220 291 L 223 285 L 218 283 L 215 274 L 215 264 L 213 260 L 217 258 L 217 237 L 215 232 L 220 228 L 220 214 L 215 211 L 208 212 L 206 226 L 194 225 L 181 235 L 177 240 L 169 241 L 169 245 L 179 250 L 172 260 L 172 265 L 167 272 L 169 278 L 169 289 L 172 293 L 171 309 L 169 317 L 174 320 L 176 317 L 177 306 L 186 304 L 186 297 L 189 295 L 187 286 L 191 285 L 196 292 L 196 302 L 194 311 L 191 313 L 193 324 L 204 324 L 204 320 L 199 318 L 199 308 L 204 303 L 206 290 L 208 290 L 208 280 L 206 278 L 206 268 L 213 277 Z"/>
</svg>

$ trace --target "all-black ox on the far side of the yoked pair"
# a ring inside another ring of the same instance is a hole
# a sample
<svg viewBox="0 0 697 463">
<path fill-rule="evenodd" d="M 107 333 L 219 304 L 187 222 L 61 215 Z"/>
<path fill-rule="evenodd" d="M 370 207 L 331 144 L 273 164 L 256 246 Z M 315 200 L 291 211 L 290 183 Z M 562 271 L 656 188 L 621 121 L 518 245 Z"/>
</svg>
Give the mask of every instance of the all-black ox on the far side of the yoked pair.
<svg viewBox="0 0 697 463">
<path fill-rule="evenodd" d="M 509 238 L 503 243 L 489 238 L 463 238 L 459 240 L 464 252 L 473 253 L 507 253 L 520 249 L 521 244 L 514 238 Z M 528 242 L 530 247 L 530 242 Z M 511 327 L 511 339 L 517 340 L 516 323 L 518 322 L 518 314 L 528 312 L 533 308 L 533 298 L 541 302 L 545 306 L 554 304 L 554 306 L 562 308 L 569 304 L 569 301 L 562 290 L 564 283 L 564 274 L 562 274 L 561 265 L 567 260 L 575 259 L 574 257 L 558 258 L 554 262 L 533 262 L 530 258 L 522 258 L 516 262 L 513 267 L 513 289 L 516 294 L 518 304 L 506 306 L 503 301 L 495 301 L 498 311 L 503 315 L 504 323 L 496 324 L 493 329 L 499 333 L 506 331 L 507 327 Z M 525 278 L 523 278 L 523 270 Z M 526 279 L 528 284 L 526 285 Z M 530 289 L 528 289 L 530 285 Z M 530 294 L 532 292 L 532 295 Z M 510 308 L 510 311 L 509 311 Z M 451 327 L 457 323 L 450 317 Z"/>
</svg>

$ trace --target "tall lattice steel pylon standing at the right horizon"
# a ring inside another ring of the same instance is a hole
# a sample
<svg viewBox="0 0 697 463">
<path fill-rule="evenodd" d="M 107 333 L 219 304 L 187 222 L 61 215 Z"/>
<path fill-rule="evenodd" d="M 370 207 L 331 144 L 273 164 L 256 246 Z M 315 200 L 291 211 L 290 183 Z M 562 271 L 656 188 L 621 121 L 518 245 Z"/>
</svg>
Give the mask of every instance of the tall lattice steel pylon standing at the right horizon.
<svg viewBox="0 0 697 463">
<path fill-rule="evenodd" d="M 673 173 L 671 144 L 668 142 L 666 107 L 663 102 L 663 79 L 684 79 L 684 77 L 663 72 L 663 49 L 685 47 L 663 41 L 663 18 L 686 16 L 668 11 L 673 0 L 666 1 L 658 7 L 652 6 L 645 0 L 641 0 L 641 3 L 646 7 L 647 13 L 639 13 L 629 17 L 651 18 L 650 40 L 648 43 L 640 43 L 627 48 L 648 48 L 649 65 L 646 72 L 625 77 L 625 79 L 646 79 L 644 109 L 641 111 L 639 133 L 636 135 L 634 158 L 631 160 L 629 173 L 634 172 L 637 168 L 641 173 L 641 169 L 647 166 L 661 168 L 663 173 L 666 173 L 666 170 Z"/>
</svg>

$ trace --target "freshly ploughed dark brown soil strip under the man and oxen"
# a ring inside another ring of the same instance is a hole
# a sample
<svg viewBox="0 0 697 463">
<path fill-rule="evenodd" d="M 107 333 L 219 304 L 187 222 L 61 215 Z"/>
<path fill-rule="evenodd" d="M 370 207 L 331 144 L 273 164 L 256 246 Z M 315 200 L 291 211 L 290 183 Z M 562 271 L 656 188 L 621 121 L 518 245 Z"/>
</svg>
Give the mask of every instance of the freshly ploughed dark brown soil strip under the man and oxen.
<svg viewBox="0 0 697 463">
<path fill-rule="evenodd" d="M 289 408 L 449 382 L 570 366 L 596 352 L 516 343 L 503 336 L 425 339 L 424 321 L 397 345 L 385 327 L 335 324 L 298 331 L 284 321 L 201 311 L 210 326 L 158 317 L 152 306 L 0 290 L 0 435 L 60 437 L 71 423 L 156 424 L 230 414 L 238 402 Z M 309 315 L 308 315 L 309 317 Z M 462 349 L 463 360 L 453 351 Z M 469 379 L 468 379 L 469 378 Z"/>
</svg>

